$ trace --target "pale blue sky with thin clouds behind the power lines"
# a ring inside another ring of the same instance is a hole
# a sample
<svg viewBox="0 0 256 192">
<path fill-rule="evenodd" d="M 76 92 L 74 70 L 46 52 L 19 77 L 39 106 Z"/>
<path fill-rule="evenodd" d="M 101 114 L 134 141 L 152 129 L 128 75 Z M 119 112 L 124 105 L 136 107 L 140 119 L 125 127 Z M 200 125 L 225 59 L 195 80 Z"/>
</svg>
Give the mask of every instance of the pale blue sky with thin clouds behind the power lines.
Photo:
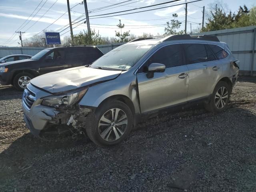
<svg viewBox="0 0 256 192">
<path fill-rule="evenodd" d="M 96 8 L 100 8 L 103 6 L 109 6 L 115 3 L 123 2 L 125 0 L 87 0 L 88 10 L 93 10 Z M 138 8 L 142 6 L 148 6 L 152 4 L 159 4 L 162 2 L 168 2 L 170 0 L 132 0 L 126 3 L 120 4 L 124 6 L 119 6 L 116 8 L 111 8 L 108 10 L 100 10 L 98 12 L 91 12 L 89 16 L 105 14 L 109 12 L 117 12 L 122 10 L 128 10 L 133 8 Z M 190 2 L 193 0 L 188 0 Z M 35 10 L 41 0 L 0 0 L 0 45 L 5 46 L 19 46 L 17 42 L 20 42 L 18 34 L 14 34 L 15 30 L 17 30 L 30 16 L 30 14 Z M 26 33 L 22 34 L 22 39 L 29 38 L 34 34 L 37 34 L 44 28 L 46 28 L 49 24 L 54 22 L 58 17 L 64 14 L 67 11 L 67 2 L 66 0 L 42 0 L 41 4 L 38 6 L 34 14 L 30 17 L 30 21 L 26 21 L 22 26 L 21 31 Z M 78 3 L 82 2 L 82 0 L 70 0 L 70 8 Z M 161 6 L 169 6 L 184 3 L 185 0 L 180 0 L 178 2 L 173 2 L 169 4 L 159 5 Z M 188 32 L 190 32 L 190 22 L 192 22 L 192 30 L 198 28 L 200 25 L 196 23 L 202 23 L 202 6 L 205 6 L 206 9 L 210 3 L 213 3 L 212 0 L 202 0 L 199 2 L 194 2 L 188 4 Z M 130 3 L 130 4 L 128 4 Z M 232 12 L 238 10 L 238 6 L 246 4 L 248 8 L 254 6 L 256 4 L 255 0 L 225 0 L 225 3 L 228 5 L 228 10 Z M 44 5 L 43 5 L 44 4 Z M 52 6 L 52 4 L 54 4 Z M 42 6 L 43 5 L 43 6 Z M 42 8 L 41 8 L 42 6 Z M 43 14 L 48 10 L 48 8 L 52 8 L 43 16 Z M 113 6 L 114 7 L 114 6 Z M 41 9 L 40 9 L 41 8 Z M 155 8 L 155 7 L 152 7 Z M 115 30 L 119 30 L 116 28 L 116 24 L 118 24 L 118 19 L 121 19 L 122 23 L 125 24 L 125 28 L 122 31 L 130 30 L 131 34 L 141 35 L 143 32 L 151 33 L 154 35 L 163 34 L 164 26 L 154 26 L 166 24 L 166 21 L 172 19 L 172 14 L 178 14 L 178 20 L 182 22 L 181 28 L 184 29 L 184 20 L 185 20 L 185 5 L 173 6 L 170 8 L 161 8 L 158 10 L 152 10 L 148 12 L 136 13 L 136 14 L 128 14 L 123 16 L 112 16 L 108 18 L 95 18 L 90 19 L 90 26 L 95 31 L 99 31 L 102 36 L 113 37 L 115 35 Z M 40 9 L 40 10 L 39 10 Z M 149 8 L 148 8 L 149 9 Z M 141 9 L 142 10 L 142 9 Z M 143 9 L 145 10 L 145 9 Z M 71 11 L 71 19 L 75 20 L 79 16 L 84 13 L 84 5 L 78 4 Z M 34 16 L 34 18 L 32 18 Z M 42 18 L 40 18 L 42 16 Z M 40 19 L 39 19 L 40 18 Z M 85 18 L 82 17 L 82 18 Z M 81 18 L 81 19 L 82 19 Z M 38 20 L 39 19 L 39 20 Z M 79 20 L 81 20 L 79 19 Z M 38 21 L 38 22 L 36 22 Z M 77 20 L 78 21 L 78 20 Z M 35 23 L 36 22 L 36 23 Z M 35 24 L 34 24 L 35 23 Z M 57 31 L 63 26 L 67 25 L 68 21 L 68 13 L 64 14 L 58 21 L 52 24 L 47 30 Z M 33 25 L 34 24 L 34 25 Z M 33 25 L 33 26 L 32 26 Z M 74 26 L 76 26 L 75 24 Z M 105 25 L 105 26 L 104 26 Z M 148 26 L 153 25 L 153 26 Z M 74 28 L 73 26 L 73 28 Z M 62 29 L 63 30 L 63 29 Z M 60 34 L 67 32 L 69 30 L 66 29 Z M 81 30 L 87 30 L 85 24 L 81 24 L 74 28 L 73 33 L 76 34 Z M 66 34 L 62 35 L 63 38 Z M 11 37 L 11 39 L 6 43 L 6 41 Z"/>
</svg>

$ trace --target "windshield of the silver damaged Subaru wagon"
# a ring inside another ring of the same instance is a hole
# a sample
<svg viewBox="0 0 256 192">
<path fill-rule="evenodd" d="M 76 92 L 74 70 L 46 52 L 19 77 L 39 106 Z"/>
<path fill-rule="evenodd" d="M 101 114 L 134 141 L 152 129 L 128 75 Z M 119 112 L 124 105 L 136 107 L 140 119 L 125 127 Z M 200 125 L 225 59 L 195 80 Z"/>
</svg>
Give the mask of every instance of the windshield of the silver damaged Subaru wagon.
<svg viewBox="0 0 256 192">
<path fill-rule="evenodd" d="M 96 60 L 92 68 L 113 68 L 128 70 L 146 53 L 152 45 L 124 44 Z"/>
</svg>

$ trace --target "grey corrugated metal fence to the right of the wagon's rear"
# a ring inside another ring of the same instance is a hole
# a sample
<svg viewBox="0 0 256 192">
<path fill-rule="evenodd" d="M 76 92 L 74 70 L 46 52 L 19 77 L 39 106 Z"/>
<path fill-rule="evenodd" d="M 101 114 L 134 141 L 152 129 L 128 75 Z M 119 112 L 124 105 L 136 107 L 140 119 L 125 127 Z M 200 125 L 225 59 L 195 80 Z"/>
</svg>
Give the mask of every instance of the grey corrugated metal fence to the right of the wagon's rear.
<svg viewBox="0 0 256 192">
<path fill-rule="evenodd" d="M 256 26 L 240 27 L 200 33 L 198 35 L 216 35 L 226 42 L 234 56 L 240 60 L 240 74 L 256 76 Z"/>
</svg>

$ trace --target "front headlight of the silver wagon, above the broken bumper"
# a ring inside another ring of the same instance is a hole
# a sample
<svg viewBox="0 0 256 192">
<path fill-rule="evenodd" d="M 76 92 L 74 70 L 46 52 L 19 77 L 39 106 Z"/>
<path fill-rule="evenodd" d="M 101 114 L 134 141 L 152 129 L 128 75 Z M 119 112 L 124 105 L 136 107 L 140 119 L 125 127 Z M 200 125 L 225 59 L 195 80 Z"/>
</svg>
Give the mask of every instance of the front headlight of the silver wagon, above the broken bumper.
<svg viewBox="0 0 256 192">
<path fill-rule="evenodd" d="M 52 106 L 52 107 L 61 107 L 61 106 L 72 106 L 87 92 L 88 88 L 80 88 L 73 91 L 64 92 L 60 95 L 52 95 L 42 98 L 42 105 Z"/>
</svg>

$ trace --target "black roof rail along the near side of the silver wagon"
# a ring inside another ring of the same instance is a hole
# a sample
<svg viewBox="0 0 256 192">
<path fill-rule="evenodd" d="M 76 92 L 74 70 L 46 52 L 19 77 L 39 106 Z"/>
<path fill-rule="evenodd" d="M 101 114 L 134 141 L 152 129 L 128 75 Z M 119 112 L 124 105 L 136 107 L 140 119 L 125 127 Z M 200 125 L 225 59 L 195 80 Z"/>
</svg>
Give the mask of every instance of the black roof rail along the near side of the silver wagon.
<svg viewBox="0 0 256 192">
<path fill-rule="evenodd" d="M 184 35 L 172 35 L 163 41 L 171 41 L 171 40 L 206 40 L 206 41 L 217 41 L 220 42 L 217 36 L 215 35 L 192 35 L 184 34 Z"/>
</svg>

